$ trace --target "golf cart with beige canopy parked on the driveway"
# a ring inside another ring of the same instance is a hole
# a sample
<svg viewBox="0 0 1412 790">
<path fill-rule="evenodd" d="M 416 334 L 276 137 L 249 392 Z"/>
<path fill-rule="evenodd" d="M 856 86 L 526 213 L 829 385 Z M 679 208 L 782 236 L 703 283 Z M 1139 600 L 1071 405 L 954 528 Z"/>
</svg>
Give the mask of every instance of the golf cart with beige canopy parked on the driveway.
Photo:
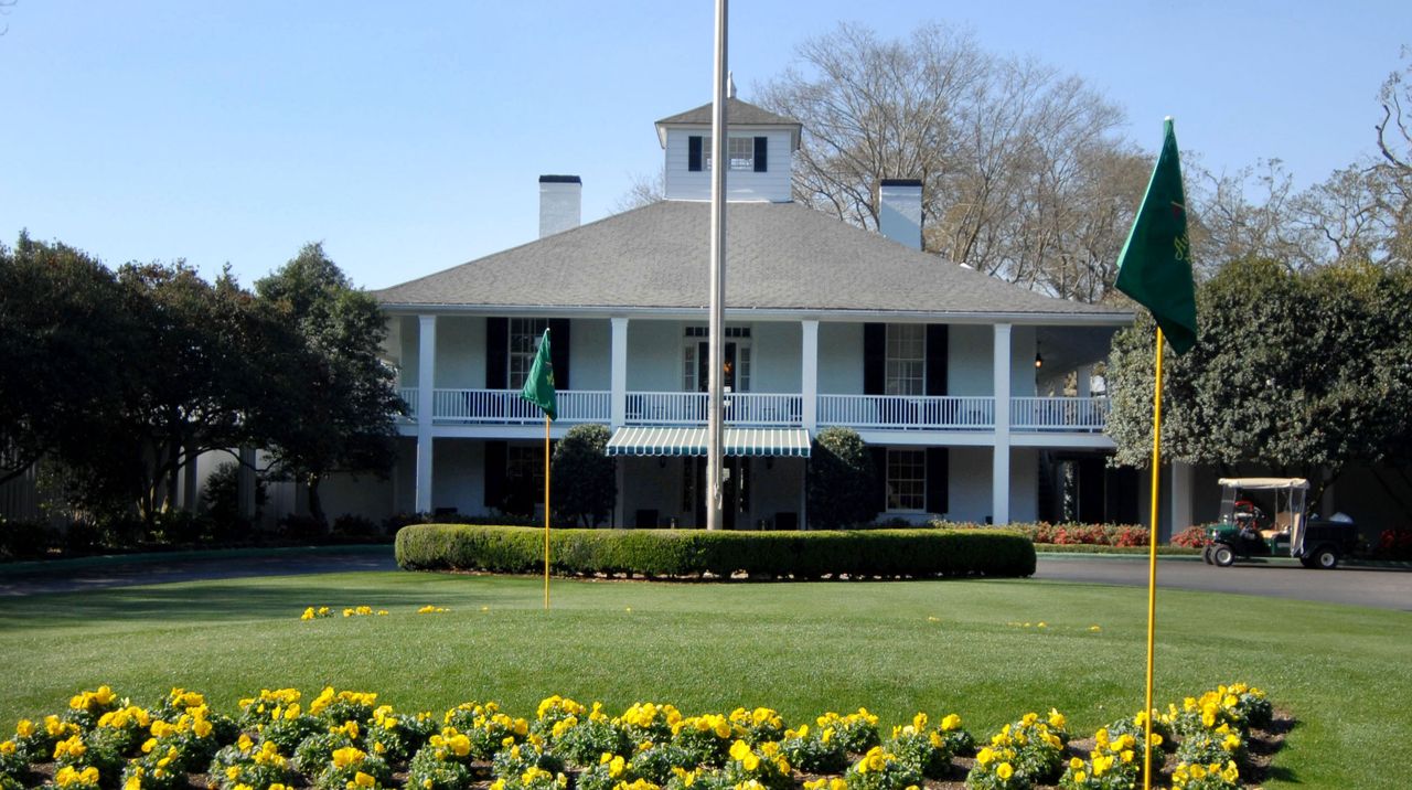
<svg viewBox="0 0 1412 790">
<path fill-rule="evenodd" d="M 1347 516 L 1310 519 L 1303 478 L 1221 478 L 1220 521 L 1206 527 L 1202 558 L 1227 567 L 1254 557 L 1295 557 L 1306 568 L 1336 568 L 1358 546 Z M 1261 507 L 1264 502 L 1269 510 Z"/>
</svg>

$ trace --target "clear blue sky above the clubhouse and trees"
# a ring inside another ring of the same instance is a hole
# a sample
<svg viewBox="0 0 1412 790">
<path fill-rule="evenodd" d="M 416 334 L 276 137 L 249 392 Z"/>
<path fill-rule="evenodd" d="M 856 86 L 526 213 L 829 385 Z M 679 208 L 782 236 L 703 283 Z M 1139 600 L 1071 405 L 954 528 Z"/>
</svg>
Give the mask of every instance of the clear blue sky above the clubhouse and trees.
<svg viewBox="0 0 1412 790">
<path fill-rule="evenodd" d="M 652 122 L 710 100 L 712 0 L 17 0 L 0 27 L 0 239 L 116 266 L 186 259 L 250 284 L 309 240 L 369 288 L 534 240 L 538 175 L 583 219 L 661 165 Z M 1405 1 L 916 0 L 731 4 L 740 96 L 799 41 L 969 27 L 1083 76 L 1144 147 L 1176 117 L 1216 171 L 1300 184 L 1374 153 Z"/>
</svg>

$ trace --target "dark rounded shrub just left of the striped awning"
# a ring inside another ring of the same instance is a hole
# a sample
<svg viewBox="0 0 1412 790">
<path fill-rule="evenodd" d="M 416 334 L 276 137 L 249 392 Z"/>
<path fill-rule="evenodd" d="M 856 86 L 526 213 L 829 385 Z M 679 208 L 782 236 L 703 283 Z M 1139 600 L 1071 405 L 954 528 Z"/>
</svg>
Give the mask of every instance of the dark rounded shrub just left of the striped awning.
<svg viewBox="0 0 1412 790">
<path fill-rule="evenodd" d="M 554 516 L 596 527 L 613 513 L 617 500 L 617 471 L 607 456 L 607 425 L 586 423 L 569 428 L 554 448 L 551 499 Z"/>
</svg>

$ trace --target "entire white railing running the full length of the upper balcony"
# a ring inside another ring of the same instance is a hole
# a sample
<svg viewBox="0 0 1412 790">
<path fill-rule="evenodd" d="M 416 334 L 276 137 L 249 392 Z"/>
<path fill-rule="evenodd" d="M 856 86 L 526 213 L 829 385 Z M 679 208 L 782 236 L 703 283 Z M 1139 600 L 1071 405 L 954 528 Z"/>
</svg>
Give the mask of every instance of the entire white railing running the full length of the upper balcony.
<svg viewBox="0 0 1412 790">
<path fill-rule="evenodd" d="M 407 421 L 417 420 L 415 387 L 400 390 Z M 611 423 L 611 393 L 565 390 L 558 397 L 558 423 Z M 803 396 L 791 393 L 727 393 L 726 423 L 740 427 L 801 428 Z M 816 425 L 858 431 L 994 432 L 995 399 L 956 396 L 820 394 Z M 1045 434 L 1101 434 L 1107 397 L 1011 397 L 1010 430 Z M 436 389 L 433 425 L 535 425 L 544 417 L 518 390 Z M 706 393 L 628 391 L 628 425 L 705 425 Z"/>
</svg>

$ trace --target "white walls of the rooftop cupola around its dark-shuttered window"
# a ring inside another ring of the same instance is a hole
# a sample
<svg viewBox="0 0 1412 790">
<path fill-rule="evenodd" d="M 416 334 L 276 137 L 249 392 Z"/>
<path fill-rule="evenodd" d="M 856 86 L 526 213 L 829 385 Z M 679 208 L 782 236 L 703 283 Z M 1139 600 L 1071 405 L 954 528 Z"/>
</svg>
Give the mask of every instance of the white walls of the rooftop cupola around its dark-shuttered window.
<svg viewBox="0 0 1412 790">
<path fill-rule="evenodd" d="M 727 120 L 729 123 L 729 120 Z M 700 171 L 692 172 L 688 170 L 689 153 L 688 153 L 688 138 L 692 136 L 702 137 L 702 163 Z M 758 137 L 765 136 L 770 138 L 770 150 L 767 153 L 765 165 L 770 168 L 765 172 L 754 172 L 748 170 L 731 170 L 726 172 L 726 199 L 727 201 L 772 201 L 772 202 L 788 202 L 789 196 L 789 168 L 791 168 L 791 150 L 789 150 L 789 130 L 778 127 L 748 127 L 748 126 L 730 126 L 731 137 Z M 705 168 L 705 161 L 710 157 L 706 143 L 710 137 L 710 127 L 698 129 L 668 129 L 666 130 L 666 198 L 671 201 L 709 201 L 710 199 L 710 175 L 712 171 Z M 729 218 L 727 218 L 729 222 Z"/>
</svg>

